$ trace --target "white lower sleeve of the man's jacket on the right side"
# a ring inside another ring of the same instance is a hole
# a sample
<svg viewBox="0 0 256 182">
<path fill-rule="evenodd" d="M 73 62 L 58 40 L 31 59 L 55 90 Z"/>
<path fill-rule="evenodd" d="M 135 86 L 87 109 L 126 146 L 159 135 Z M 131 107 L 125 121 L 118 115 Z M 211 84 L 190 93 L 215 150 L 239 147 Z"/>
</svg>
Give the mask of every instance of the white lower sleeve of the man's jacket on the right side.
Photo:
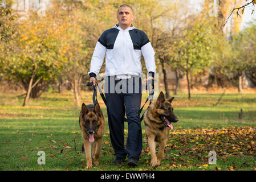
<svg viewBox="0 0 256 182">
<path fill-rule="evenodd" d="M 141 47 L 141 52 L 145 59 L 147 71 L 156 73 L 155 51 L 151 45 L 151 42 L 148 42 Z"/>
</svg>

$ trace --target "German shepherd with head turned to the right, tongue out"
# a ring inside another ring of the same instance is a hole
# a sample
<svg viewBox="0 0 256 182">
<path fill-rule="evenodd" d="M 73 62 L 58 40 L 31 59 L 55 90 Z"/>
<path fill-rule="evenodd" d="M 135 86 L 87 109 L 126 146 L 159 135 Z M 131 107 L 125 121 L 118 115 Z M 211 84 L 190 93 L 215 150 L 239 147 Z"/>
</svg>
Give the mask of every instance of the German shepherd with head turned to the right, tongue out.
<svg viewBox="0 0 256 182">
<path fill-rule="evenodd" d="M 168 142 L 169 131 L 173 129 L 172 122 L 178 121 L 178 118 L 173 113 L 173 99 L 174 97 L 165 100 L 164 93 L 160 92 L 156 102 L 149 105 L 144 113 L 145 133 L 153 167 L 159 166 L 161 159 L 164 159 L 164 147 Z M 159 142 L 157 156 L 156 142 Z"/>
</svg>

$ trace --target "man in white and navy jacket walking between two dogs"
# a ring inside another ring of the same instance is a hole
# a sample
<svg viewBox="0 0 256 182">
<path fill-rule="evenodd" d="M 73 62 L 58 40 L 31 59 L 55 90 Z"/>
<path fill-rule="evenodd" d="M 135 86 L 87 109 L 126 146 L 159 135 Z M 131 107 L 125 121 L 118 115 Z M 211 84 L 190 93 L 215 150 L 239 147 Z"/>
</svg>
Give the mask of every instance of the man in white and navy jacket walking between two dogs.
<svg viewBox="0 0 256 182">
<path fill-rule="evenodd" d="M 121 5 L 117 11 L 117 20 L 113 28 L 105 30 L 96 43 L 92 55 L 90 82 L 95 84 L 95 77 L 99 74 L 105 58 L 105 97 L 107 100 L 107 113 L 109 134 L 112 147 L 115 151 L 113 163 L 121 164 L 128 155 L 128 165 L 137 166 L 142 150 L 142 133 L 140 122 L 141 104 L 141 78 L 140 57 L 143 53 L 148 71 L 147 81 L 153 85 L 156 73 L 155 52 L 145 32 L 132 25 L 134 18 L 132 8 Z M 111 80 L 112 79 L 112 80 Z M 139 80 L 139 81 L 138 81 Z M 131 83 L 132 84 L 129 84 Z M 113 84 L 111 85 L 111 82 Z M 123 86 L 122 92 L 116 88 Z M 113 92 L 111 90 L 115 89 Z M 131 92 L 126 92 L 126 91 Z M 136 92 L 136 90 L 139 92 Z M 124 115 L 127 115 L 128 138 L 124 147 Z"/>
</svg>

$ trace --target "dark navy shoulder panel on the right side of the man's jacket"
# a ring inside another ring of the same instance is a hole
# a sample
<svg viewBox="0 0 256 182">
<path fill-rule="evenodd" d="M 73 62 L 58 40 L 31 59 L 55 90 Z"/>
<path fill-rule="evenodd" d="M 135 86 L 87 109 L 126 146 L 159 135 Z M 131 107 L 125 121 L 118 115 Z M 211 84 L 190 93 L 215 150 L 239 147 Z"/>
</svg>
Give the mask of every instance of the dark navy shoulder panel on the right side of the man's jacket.
<svg viewBox="0 0 256 182">
<path fill-rule="evenodd" d="M 145 44 L 149 43 L 148 36 L 144 31 L 139 29 L 129 30 L 132 39 L 133 49 L 141 49 Z"/>
</svg>

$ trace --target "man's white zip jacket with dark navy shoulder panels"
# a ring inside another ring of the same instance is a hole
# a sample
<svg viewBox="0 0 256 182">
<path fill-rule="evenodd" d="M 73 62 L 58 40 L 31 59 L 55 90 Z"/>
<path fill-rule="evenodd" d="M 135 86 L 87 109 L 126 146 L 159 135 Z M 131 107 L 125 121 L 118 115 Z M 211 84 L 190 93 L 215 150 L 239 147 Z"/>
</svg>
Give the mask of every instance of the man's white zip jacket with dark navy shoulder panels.
<svg viewBox="0 0 256 182">
<path fill-rule="evenodd" d="M 125 30 L 116 24 L 97 40 L 88 75 L 99 74 L 105 55 L 105 75 L 141 75 L 141 53 L 148 73 L 156 73 L 155 51 L 145 32 L 132 24 Z"/>
</svg>

